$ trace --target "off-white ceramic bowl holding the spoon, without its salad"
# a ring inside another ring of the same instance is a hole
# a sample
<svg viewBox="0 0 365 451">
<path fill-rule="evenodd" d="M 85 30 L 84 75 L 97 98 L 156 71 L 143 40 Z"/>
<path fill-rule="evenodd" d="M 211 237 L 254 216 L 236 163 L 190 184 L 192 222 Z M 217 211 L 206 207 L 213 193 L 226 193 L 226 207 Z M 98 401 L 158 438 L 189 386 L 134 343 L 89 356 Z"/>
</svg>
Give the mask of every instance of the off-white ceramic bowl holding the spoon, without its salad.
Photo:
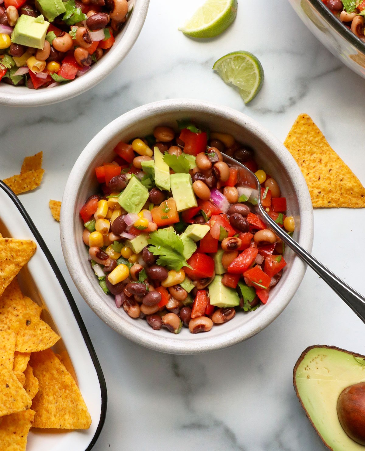
<svg viewBox="0 0 365 451">
<path fill-rule="evenodd" d="M 172 354 L 218 350 L 254 336 L 284 310 L 305 273 L 304 263 L 288 249 L 285 253 L 288 265 L 270 291 L 266 305 L 254 312 L 238 312 L 231 321 L 200 334 L 191 334 L 186 328 L 178 335 L 164 329 L 154 331 L 146 321 L 132 319 L 123 308 L 116 308 L 114 297 L 104 295 L 88 262 L 79 216 L 85 200 L 98 191 L 95 167 L 112 161 L 113 148 L 120 140 L 128 142 L 136 136 L 148 135 L 159 124 L 176 129 L 176 120 L 186 118 L 208 125 L 211 130 L 231 133 L 239 142 L 253 147 L 256 160 L 277 179 L 286 196 L 288 211 L 296 219 L 294 238 L 309 251 L 313 241 L 312 204 L 299 167 L 283 144 L 248 116 L 226 106 L 175 99 L 136 108 L 102 129 L 79 156 L 66 184 L 60 219 L 65 261 L 80 294 L 106 324 L 136 343 Z"/>
</svg>

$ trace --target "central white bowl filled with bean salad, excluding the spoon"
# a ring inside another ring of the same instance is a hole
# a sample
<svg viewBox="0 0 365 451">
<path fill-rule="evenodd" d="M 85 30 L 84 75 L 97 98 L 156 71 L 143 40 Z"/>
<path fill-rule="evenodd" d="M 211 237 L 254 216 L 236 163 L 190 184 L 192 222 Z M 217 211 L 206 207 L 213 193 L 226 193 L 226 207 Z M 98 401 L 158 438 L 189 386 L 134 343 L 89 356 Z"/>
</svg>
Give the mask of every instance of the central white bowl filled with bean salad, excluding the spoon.
<svg viewBox="0 0 365 451">
<path fill-rule="evenodd" d="M 260 193 L 239 165 L 254 171 Z M 300 169 L 259 124 L 224 106 L 155 102 L 107 125 L 66 184 L 61 243 L 75 285 L 109 326 L 155 350 L 236 344 L 286 307 L 305 266 L 257 214 L 306 249 L 313 213 Z"/>
</svg>

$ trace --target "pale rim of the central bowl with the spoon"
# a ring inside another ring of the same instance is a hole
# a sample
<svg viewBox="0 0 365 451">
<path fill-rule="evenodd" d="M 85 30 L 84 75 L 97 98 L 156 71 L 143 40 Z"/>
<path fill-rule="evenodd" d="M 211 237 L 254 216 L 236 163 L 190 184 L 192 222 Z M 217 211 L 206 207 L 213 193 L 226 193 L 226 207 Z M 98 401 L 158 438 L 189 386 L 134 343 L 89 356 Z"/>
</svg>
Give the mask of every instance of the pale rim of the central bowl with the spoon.
<svg viewBox="0 0 365 451">
<path fill-rule="evenodd" d="M 295 257 L 290 268 L 290 271 L 296 274 L 295 281 L 293 281 L 290 286 L 286 283 L 281 288 L 281 293 L 283 293 L 282 297 L 286 299 L 286 301 L 265 305 L 265 313 L 261 314 L 259 321 L 257 318 L 253 318 L 250 324 L 247 325 L 248 330 L 245 331 L 245 333 L 242 333 L 240 327 L 237 327 L 229 334 L 227 333 L 220 337 L 212 337 L 209 339 L 209 334 L 199 334 L 200 340 L 179 341 L 176 340 L 174 334 L 171 334 L 171 337 L 168 336 L 167 338 L 166 336 L 158 334 L 152 336 L 140 331 L 137 327 L 134 327 L 133 324 L 120 322 L 117 315 L 114 315 L 109 308 L 106 308 L 106 304 L 101 303 L 101 294 L 97 293 L 93 287 L 90 290 L 88 277 L 84 276 L 79 271 L 77 259 L 74 258 L 74 249 L 76 248 L 74 230 L 73 227 L 70 227 L 70 225 L 74 223 L 74 211 L 77 199 L 75 193 L 79 192 L 80 181 L 83 178 L 80 175 L 84 174 L 84 168 L 92 163 L 97 154 L 111 141 L 112 138 L 120 133 L 121 130 L 126 129 L 129 125 L 135 124 L 139 120 L 144 120 L 158 113 L 176 111 L 186 111 L 187 114 L 208 111 L 212 115 L 223 116 L 226 120 L 232 120 L 237 124 L 240 124 L 245 129 L 258 136 L 268 147 L 275 149 L 275 155 L 279 161 L 281 161 L 283 166 L 285 166 L 290 175 L 291 182 L 295 187 L 295 191 L 300 191 L 301 193 L 301 196 L 298 197 L 300 208 L 299 244 L 309 252 L 311 251 L 313 244 L 313 209 L 305 179 L 299 166 L 287 151 L 286 147 L 255 120 L 227 106 L 220 106 L 211 102 L 194 99 L 168 99 L 152 102 L 147 105 L 139 106 L 134 110 L 130 110 L 113 120 L 88 143 L 71 170 L 62 199 L 60 215 L 61 246 L 71 278 L 79 290 L 80 295 L 85 299 L 90 308 L 92 308 L 106 324 L 118 333 L 153 350 L 170 354 L 198 354 L 235 345 L 240 341 L 254 336 L 273 322 L 273 320 L 282 313 L 287 304 L 289 304 L 304 277 L 306 265 L 300 258 Z"/>
</svg>

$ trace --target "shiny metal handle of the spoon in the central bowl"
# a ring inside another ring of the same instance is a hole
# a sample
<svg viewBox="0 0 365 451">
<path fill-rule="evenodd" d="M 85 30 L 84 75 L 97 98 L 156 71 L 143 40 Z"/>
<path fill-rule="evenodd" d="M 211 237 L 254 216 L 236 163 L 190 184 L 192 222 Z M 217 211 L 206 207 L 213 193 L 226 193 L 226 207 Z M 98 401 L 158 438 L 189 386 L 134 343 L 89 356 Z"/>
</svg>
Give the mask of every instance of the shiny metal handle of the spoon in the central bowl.
<svg viewBox="0 0 365 451">
<path fill-rule="evenodd" d="M 333 272 L 329 271 L 322 263 L 314 258 L 309 252 L 303 249 L 294 239 L 291 238 L 273 219 L 265 212 L 263 207 L 259 205 L 259 211 L 273 231 L 279 236 L 285 244 L 287 244 L 299 257 L 316 272 L 333 291 L 343 299 L 346 304 L 356 313 L 356 315 L 365 322 L 365 298 L 357 291 L 353 290 L 349 285 L 339 279 Z"/>
</svg>

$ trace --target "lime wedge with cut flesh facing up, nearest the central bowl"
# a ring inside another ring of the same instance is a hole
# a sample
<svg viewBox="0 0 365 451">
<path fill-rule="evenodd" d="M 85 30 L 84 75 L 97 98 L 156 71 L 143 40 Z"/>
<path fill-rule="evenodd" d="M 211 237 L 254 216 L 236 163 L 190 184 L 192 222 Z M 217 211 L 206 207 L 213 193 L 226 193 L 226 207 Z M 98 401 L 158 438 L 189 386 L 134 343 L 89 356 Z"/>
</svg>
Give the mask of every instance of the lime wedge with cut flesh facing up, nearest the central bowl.
<svg viewBox="0 0 365 451">
<path fill-rule="evenodd" d="M 262 87 L 263 67 L 252 53 L 237 51 L 228 53 L 213 65 L 224 83 L 238 87 L 240 96 L 249 103 Z"/>
</svg>

